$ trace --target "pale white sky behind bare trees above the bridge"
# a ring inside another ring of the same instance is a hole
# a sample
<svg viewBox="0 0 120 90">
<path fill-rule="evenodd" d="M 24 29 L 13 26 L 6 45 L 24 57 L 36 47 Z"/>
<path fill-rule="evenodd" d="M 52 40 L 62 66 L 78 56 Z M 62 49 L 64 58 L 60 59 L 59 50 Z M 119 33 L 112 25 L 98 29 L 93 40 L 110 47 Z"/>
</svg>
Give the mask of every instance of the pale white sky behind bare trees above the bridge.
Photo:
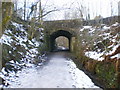
<svg viewBox="0 0 120 90">
<path fill-rule="evenodd" d="M 23 1 L 24 0 L 19 0 L 20 3 L 23 3 Z M 39 1 L 39 0 L 27 0 L 29 4 L 31 2 L 36 2 L 36 1 Z M 78 8 L 80 4 L 82 4 L 86 8 L 86 10 L 84 10 L 84 14 L 90 13 L 91 19 L 99 15 L 101 15 L 102 17 L 109 17 L 111 16 L 111 14 L 117 15 L 118 14 L 118 5 L 117 5 L 118 1 L 120 0 L 104 0 L 104 1 L 103 0 L 41 0 L 43 7 L 45 7 L 46 10 L 48 11 L 55 7 L 62 9 L 61 11 L 52 12 L 51 14 L 47 15 L 45 17 L 46 20 L 64 19 L 65 12 L 68 11 L 68 9 L 66 8 L 71 8 L 71 11 L 69 12 L 72 12 L 72 10 L 75 8 Z M 111 13 L 111 5 L 112 5 L 113 13 Z"/>
</svg>

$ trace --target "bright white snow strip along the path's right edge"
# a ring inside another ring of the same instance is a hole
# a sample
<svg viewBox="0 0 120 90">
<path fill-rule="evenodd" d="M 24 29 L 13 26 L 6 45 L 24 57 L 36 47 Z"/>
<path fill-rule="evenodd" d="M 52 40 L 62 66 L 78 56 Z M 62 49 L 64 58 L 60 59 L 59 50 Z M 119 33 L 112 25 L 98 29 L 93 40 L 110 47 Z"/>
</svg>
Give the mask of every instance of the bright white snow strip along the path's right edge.
<svg viewBox="0 0 120 90">
<path fill-rule="evenodd" d="M 98 88 L 94 85 L 94 83 L 92 83 L 91 79 L 83 71 L 76 67 L 72 60 L 70 60 L 68 63 L 70 64 L 69 67 L 72 73 L 72 79 L 76 81 L 74 85 L 77 88 Z"/>
</svg>

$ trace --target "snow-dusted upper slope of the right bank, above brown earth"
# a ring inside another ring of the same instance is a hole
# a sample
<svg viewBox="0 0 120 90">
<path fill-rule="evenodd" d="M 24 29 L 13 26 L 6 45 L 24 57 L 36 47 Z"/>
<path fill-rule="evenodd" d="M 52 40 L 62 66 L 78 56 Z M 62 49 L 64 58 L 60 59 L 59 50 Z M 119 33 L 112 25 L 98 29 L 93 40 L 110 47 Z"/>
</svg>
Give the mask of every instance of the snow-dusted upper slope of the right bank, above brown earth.
<svg viewBox="0 0 120 90">
<path fill-rule="evenodd" d="M 94 49 L 90 50 L 90 51 L 87 50 L 85 52 L 85 56 L 92 58 L 94 60 L 102 61 L 102 60 L 104 60 L 104 58 L 102 57 L 103 55 L 111 55 L 112 53 L 114 53 L 116 48 L 120 45 L 119 44 L 120 40 L 118 40 L 119 33 L 117 33 L 117 31 L 115 32 L 115 28 L 119 27 L 119 25 L 120 24 L 118 22 L 116 22 L 112 25 L 105 25 L 105 24 L 102 25 L 101 24 L 101 26 L 99 26 L 97 28 L 92 27 L 92 26 L 83 26 L 83 28 L 80 29 L 80 33 L 81 33 L 80 36 L 83 37 L 83 39 L 85 39 L 86 41 L 88 39 L 88 36 L 87 36 L 88 34 L 89 35 L 92 34 L 94 37 L 93 42 L 92 42 L 92 40 L 91 40 L 91 42 L 89 42 L 89 40 L 86 42 L 87 44 L 89 44 L 87 46 L 94 45 L 94 47 L 91 47 Z M 84 32 L 85 29 L 88 29 L 88 31 L 86 32 L 87 34 L 86 33 L 82 34 L 82 32 Z M 94 32 L 96 32 L 96 33 L 94 33 Z M 89 38 L 91 38 L 91 37 L 89 36 Z M 82 42 L 82 43 L 84 44 L 84 42 Z M 104 46 L 101 46 L 101 44 Z M 115 58 L 115 57 L 117 57 L 119 59 L 120 53 L 112 56 L 111 58 Z"/>
</svg>

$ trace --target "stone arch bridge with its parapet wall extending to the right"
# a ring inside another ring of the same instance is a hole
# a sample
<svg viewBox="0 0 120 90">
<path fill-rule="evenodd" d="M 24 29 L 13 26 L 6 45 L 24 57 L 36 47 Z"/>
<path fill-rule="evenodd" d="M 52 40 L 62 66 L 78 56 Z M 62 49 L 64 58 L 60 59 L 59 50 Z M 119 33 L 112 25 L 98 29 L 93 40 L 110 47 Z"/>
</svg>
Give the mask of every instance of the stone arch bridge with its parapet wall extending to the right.
<svg viewBox="0 0 120 90">
<path fill-rule="evenodd" d="M 53 51 L 55 49 L 55 39 L 59 36 L 64 36 L 69 40 L 69 50 L 73 51 L 73 43 L 75 43 L 78 36 L 78 32 L 82 26 L 95 26 L 99 24 L 109 25 L 115 22 L 120 22 L 119 16 L 88 21 L 83 21 L 80 19 L 44 21 L 43 26 L 46 34 L 45 38 L 47 48 L 49 51 Z"/>
</svg>

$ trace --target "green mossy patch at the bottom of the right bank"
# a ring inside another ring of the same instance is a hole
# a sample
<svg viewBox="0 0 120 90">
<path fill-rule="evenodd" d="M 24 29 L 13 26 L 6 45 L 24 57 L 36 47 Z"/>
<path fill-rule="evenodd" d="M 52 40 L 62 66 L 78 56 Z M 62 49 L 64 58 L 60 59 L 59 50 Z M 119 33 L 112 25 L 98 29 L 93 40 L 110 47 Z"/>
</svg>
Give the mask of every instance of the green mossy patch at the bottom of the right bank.
<svg viewBox="0 0 120 90">
<path fill-rule="evenodd" d="M 99 62 L 96 65 L 96 75 L 106 83 L 106 87 L 117 87 L 117 78 L 113 63 Z"/>
</svg>

